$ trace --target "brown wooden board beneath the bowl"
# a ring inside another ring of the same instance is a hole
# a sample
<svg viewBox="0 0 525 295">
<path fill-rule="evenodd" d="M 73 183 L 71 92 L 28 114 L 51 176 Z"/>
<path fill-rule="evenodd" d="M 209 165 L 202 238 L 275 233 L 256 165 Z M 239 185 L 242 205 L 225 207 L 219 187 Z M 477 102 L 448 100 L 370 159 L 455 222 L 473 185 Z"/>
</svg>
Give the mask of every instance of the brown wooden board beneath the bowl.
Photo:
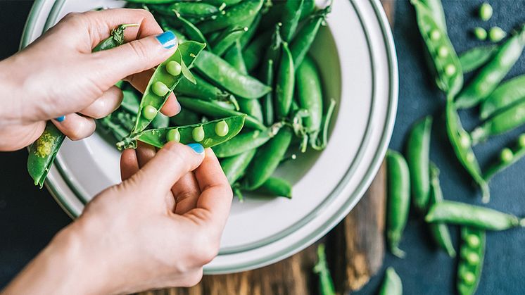
<svg viewBox="0 0 525 295">
<path fill-rule="evenodd" d="M 393 25 L 393 0 L 382 0 Z M 317 245 L 327 245 L 336 291 L 358 290 L 379 268 L 384 257 L 386 168 L 383 163 L 365 196 L 321 241 L 290 258 L 265 268 L 231 275 L 206 275 L 195 287 L 148 291 L 142 295 L 285 295 L 317 294 Z"/>
</svg>

